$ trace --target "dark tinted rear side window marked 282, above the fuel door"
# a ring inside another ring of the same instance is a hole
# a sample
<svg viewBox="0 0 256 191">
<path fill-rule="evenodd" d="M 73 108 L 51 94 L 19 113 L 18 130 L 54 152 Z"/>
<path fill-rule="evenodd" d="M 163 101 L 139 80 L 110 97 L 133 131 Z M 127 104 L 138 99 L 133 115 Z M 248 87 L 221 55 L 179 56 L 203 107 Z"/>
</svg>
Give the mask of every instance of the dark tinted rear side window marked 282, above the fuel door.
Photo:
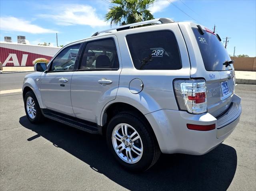
<svg viewBox="0 0 256 191">
<path fill-rule="evenodd" d="M 126 36 L 134 67 L 138 70 L 181 69 L 175 35 L 171 31 L 136 33 Z"/>
</svg>

